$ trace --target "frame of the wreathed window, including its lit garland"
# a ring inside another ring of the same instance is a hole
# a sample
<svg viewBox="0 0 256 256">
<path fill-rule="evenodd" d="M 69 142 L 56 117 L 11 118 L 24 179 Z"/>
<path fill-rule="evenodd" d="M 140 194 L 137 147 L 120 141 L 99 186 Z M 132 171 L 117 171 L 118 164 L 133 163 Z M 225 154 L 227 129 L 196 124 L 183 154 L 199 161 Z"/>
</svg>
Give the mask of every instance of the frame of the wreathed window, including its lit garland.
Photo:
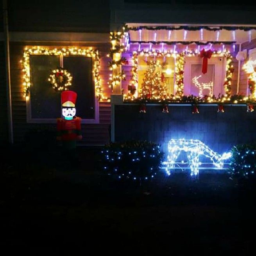
<svg viewBox="0 0 256 256">
<path fill-rule="evenodd" d="M 98 50 L 93 48 L 76 48 L 76 47 L 62 47 L 62 48 L 54 48 L 54 47 L 31 47 L 25 48 L 23 53 L 23 89 L 24 96 L 26 98 L 26 116 L 27 123 L 29 124 L 55 124 L 56 118 L 32 118 L 31 111 L 31 101 L 30 101 L 30 55 L 61 55 L 65 57 L 68 56 L 84 56 L 92 58 L 92 72 L 93 72 L 93 87 L 94 87 L 94 99 L 95 99 L 95 107 L 94 107 L 94 119 L 81 119 L 81 124 L 99 124 L 99 100 L 98 98 L 102 97 L 102 89 L 100 87 L 100 77 L 99 77 L 99 55 Z M 79 97 L 79 95 L 78 95 Z M 79 116 L 79 113 L 78 113 Z M 60 116 L 61 117 L 61 113 Z"/>
</svg>

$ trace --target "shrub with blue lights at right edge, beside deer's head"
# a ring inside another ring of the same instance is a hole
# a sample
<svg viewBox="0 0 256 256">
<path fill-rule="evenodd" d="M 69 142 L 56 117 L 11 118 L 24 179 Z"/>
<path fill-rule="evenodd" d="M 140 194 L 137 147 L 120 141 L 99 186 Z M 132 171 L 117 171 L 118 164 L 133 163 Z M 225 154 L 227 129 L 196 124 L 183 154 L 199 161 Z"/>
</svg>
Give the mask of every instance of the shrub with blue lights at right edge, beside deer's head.
<svg viewBox="0 0 256 256">
<path fill-rule="evenodd" d="M 239 177 L 255 177 L 256 144 L 236 145 L 231 152 L 231 173 Z"/>
</svg>

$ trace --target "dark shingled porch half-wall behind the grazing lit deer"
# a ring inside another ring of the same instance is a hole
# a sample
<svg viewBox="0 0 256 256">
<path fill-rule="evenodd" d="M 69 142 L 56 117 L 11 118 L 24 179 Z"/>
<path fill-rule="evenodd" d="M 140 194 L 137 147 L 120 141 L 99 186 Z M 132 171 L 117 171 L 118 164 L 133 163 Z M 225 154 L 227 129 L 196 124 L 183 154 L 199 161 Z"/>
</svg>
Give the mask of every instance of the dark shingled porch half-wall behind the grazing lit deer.
<svg viewBox="0 0 256 256">
<path fill-rule="evenodd" d="M 217 113 L 216 106 L 199 106 L 199 114 L 192 114 L 192 106 L 147 105 L 147 113 L 139 113 L 139 105 L 115 105 L 115 140 L 150 140 L 162 144 L 167 151 L 170 139 L 198 139 L 220 154 L 237 143 L 256 140 L 256 111 L 247 113 L 243 106 L 225 106 L 225 113 Z"/>
</svg>

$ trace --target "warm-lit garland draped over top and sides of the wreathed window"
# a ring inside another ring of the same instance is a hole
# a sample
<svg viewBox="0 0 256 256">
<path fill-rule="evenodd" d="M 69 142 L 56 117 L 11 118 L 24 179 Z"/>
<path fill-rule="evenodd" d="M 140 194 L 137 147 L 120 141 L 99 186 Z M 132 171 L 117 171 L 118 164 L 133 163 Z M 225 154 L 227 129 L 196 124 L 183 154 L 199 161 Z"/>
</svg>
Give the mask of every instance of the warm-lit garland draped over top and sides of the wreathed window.
<svg viewBox="0 0 256 256">
<path fill-rule="evenodd" d="M 63 47 L 63 48 L 46 48 L 41 46 L 25 48 L 23 52 L 23 59 L 21 63 L 23 64 L 23 91 L 24 97 L 29 97 L 29 88 L 30 88 L 30 55 L 63 55 L 63 56 L 85 56 L 92 57 L 93 59 L 93 78 L 94 78 L 94 86 L 95 86 L 95 95 L 98 100 L 108 100 L 107 97 L 104 96 L 101 79 L 100 79 L 100 57 L 97 49 L 89 48 L 77 48 L 77 47 Z"/>
</svg>

